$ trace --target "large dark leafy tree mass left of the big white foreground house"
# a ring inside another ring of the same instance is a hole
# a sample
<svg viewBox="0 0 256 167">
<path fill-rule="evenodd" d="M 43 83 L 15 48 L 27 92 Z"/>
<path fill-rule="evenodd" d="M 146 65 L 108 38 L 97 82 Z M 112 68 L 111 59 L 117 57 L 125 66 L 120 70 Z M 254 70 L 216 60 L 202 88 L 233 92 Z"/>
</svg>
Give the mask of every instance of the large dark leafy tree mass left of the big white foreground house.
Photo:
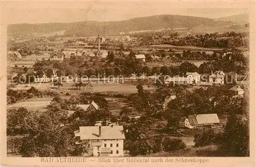
<svg viewBox="0 0 256 167">
<path fill-rule="evenodd" d="M 22 141 L 20 154 L 23 157 L 66 157 L 73 135 L 69 129 L 60 127 L 55 112 L 42 112 L 34 117 L 31 132 Z"/>
</svg>

